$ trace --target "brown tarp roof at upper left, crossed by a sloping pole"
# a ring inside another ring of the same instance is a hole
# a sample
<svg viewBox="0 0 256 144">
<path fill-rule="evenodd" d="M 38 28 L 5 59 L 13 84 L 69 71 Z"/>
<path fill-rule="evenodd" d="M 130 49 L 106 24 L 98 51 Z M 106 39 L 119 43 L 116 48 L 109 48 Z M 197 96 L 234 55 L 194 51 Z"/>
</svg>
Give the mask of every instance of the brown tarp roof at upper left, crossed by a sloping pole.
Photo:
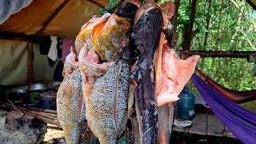
<svg viewBox="0 0 256 144">
<path fill-rule="evenodd" d="M 62 6 L 63 2 L 64 6 Z M 6 22 L 3 22 L 0 25 L 0 30 L 20 34 L 38 34 L 44 23 L 61 6 L 61 10 L 52 18 L 41 35 L 74 38 L 81 26 L 92 15 L 98 15 L 100 6 L 107 6 L 108 2 L 108 0 L 66 0 L 66 2 L 65 0 L 34 0 L 29 6 L 11 15 Z"/>
</svg>

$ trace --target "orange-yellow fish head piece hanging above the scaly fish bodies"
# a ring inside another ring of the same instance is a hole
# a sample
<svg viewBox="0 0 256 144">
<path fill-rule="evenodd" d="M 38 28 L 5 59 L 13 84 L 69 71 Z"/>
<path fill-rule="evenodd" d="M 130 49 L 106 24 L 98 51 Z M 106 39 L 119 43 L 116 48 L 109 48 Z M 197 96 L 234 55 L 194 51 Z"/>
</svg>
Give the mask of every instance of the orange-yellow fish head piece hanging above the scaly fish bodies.
<svg viewBox="0 0 256 144">
<path fill-rule="evenodd" d="M 106 13 L 102 18 L 92 18 L 82 26 L 75 46 L 81 50 L 87 42 L 87 49 L 94 50 L 104 62 L 115 60 L 122 51 L 122 45 L 126 45 L 127 32 L 130 29 L 130 19 L 122 18 L 116 14 Z"/>
</svg>

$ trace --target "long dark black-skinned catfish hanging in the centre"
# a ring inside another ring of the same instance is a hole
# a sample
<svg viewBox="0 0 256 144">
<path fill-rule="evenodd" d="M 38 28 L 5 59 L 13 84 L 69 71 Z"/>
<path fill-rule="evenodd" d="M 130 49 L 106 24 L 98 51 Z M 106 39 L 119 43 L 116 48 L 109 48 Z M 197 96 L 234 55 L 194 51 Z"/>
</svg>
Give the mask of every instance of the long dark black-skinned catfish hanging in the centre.
<svg viewBox="0 0 256 144">
<path fill-rule="evenodd" d="M 142 5 L 133 26 L 132 42 L 138 51 L 137 68 L 134 79 L 135 107 L 138 118 L 140 143 L 158 142 L 158 112 L 154 90 L 154 51 L 162 31 L 162 11 L 151 3 Z"/>
</svg>

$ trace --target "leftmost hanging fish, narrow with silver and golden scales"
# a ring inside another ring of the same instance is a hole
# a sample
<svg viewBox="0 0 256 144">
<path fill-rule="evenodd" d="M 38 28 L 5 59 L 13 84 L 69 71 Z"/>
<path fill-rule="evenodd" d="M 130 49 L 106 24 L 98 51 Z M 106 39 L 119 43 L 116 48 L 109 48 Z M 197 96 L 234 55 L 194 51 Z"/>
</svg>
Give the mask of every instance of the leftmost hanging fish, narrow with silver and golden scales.
<svg viewBox="0 0 256 144">
<path fill-rule="evenodd" d="M 86 130 L 86 106 L 82 97 L 82 75 L 76 54 L 71 48 L 66 56 L 63 81 L 57 93 L 58 121 L 64 131 L 66 143 L 78 143 L 82 130 Z"/>
</svg>

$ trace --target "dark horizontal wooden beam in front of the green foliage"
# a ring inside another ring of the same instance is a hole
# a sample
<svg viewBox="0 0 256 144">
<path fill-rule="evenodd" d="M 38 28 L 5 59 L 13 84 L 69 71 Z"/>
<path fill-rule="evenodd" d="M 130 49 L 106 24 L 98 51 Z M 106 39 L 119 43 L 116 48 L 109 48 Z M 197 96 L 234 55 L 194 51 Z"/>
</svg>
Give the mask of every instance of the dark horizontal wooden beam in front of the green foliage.
<svg viewBox="0 0 256 144">
<path fill-rule="evenodd" d="M 211 58 L 249 58 L 250 56 L 256 57 L 256 51 L 203 51 L 203 50 L 190 50 L 178 51 L 178 54 L 194 55 L 198 54 L 201 57 Z"/>
</svg>

